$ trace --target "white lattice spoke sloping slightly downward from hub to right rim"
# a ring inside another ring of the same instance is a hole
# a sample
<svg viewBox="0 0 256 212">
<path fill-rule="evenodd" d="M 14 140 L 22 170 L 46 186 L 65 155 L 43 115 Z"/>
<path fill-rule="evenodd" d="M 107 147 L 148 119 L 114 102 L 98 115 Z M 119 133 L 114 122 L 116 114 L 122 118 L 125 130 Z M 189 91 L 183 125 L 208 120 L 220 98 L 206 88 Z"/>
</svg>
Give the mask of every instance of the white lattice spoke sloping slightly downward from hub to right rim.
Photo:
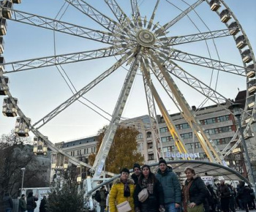
<svg viewBox="0 0 256 212">
<path fill-rule="evenodd" d="M 168 56 L 167 56 L 168 54 Z M 176 61 L 181 61 L 188 64 L 194 64 L 200 67 L 206 67 L 210 69 L 217 69 L 222 72 L 229 72 L 230 74 L 246 76 L 244 67 L 226 63 L 224 61 L 214 60 L 212 58 L 206 58 L 203 56 L 197 56 L 194 54 L 186 53 L 181 50 L 172 49 L 170 52 L 161 51 L 159 56 L 162 58 L 170 58 Z"/>
</svg>

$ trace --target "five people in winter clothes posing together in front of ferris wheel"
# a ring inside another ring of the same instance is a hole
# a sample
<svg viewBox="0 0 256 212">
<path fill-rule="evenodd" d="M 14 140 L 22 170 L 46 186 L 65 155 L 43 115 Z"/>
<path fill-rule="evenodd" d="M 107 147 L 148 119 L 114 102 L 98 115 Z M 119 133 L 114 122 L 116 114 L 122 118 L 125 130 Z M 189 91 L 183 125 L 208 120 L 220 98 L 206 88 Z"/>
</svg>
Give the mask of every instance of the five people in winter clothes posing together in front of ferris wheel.
<svg viewBox="0 0 256 212">
<path fill-rule="evenodd" d="M 155 175 L 147 164 L 141 169 L 139 164 L 135 164 L 133 170 L 132 178 L 129 178 L 129 170 L 122 169 L 120 178 L 113 182 L 109 194 L 109 212 L 118 211 L 118 205 L 126 201 L 132 212 L 176 212 L 181 207 L 185 212 L 203 212 L 208 190 L 192 167 L 184 170 L 187 180 L 182 189 L 176 173 L 167 166 L 165 159 L 159 160 Z M 140 192 L 145 192 L 145 189 L 148 194 L 146 200 L 142 201 Z"/>
</svg>

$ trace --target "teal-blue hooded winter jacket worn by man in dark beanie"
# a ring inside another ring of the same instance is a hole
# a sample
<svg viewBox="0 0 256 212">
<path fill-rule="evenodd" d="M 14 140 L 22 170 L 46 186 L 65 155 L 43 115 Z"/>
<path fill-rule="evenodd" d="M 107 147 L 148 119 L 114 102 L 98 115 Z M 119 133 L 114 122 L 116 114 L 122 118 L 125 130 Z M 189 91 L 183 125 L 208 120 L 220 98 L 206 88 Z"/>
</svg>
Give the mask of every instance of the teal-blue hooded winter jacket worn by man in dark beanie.
<svg viewBox="0 0 256 212">
<path fill-rule="evenodd" d="M 181 184 L 178 181 L 176 173 L 173 173 L 173 169 L 167 167 L 165 173 L 158 170 L 156 178 L 162 185 L 165 204 L 172 202 L 181 204 Z"/>
</svg>

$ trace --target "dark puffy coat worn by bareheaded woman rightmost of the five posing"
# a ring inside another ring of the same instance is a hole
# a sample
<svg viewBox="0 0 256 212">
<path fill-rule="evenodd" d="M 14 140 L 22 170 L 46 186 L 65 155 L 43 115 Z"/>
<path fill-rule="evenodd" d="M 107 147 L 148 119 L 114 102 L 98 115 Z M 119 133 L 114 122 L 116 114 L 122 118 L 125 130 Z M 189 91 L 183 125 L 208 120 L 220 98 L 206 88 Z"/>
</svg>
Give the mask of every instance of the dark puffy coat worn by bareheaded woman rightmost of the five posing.
<svg viewBox="0 0 256 212">
<path fill-rule="evenodd" d="M 189 182 L 187 182 L 186 180 L 185 185 L 188 185 L 188 184 Z M 209 192 L 203 180 L 200 178 L 199 175 L 195 175 L 193 177 L 192 184 L 189 188 L 189 202 L 195 202 L 195 204 L 200 205 L 205 201 L 208 193 Z M 182 194 L 184 195 L 184 190 L 182 191 Z"/>
</svg>

